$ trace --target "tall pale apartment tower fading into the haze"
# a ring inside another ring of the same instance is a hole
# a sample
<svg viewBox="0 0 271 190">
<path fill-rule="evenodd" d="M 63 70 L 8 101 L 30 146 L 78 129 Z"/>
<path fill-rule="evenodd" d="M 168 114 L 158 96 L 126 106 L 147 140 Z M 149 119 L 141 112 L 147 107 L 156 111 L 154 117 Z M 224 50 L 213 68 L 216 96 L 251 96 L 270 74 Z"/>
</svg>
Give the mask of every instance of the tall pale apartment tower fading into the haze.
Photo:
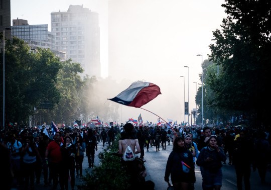
<svg viewBox="0 0 271 190">
<path fill-rule="evenodd" d="M 53 50 L 81 63 L 84 74 L 101 76 L 98 13 L 71 5 L 67 12 L 51 13 L 51 31 L 55 33 Z"/>
</svg>

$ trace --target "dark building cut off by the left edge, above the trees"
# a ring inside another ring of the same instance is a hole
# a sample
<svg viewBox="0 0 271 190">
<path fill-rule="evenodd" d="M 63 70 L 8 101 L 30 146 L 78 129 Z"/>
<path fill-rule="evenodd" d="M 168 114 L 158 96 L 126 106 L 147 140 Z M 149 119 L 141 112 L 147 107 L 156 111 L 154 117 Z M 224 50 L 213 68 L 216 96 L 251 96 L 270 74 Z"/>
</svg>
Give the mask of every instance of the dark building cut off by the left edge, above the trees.
<svg viewBox="0 0 271 190">
<path fill-rule="evenodd" d="M 5 28 L 11 28 L 11 0 L 0 0 L 1 34 L 4 32 Z M 11 39 L 11 30 L 5 30 L 5 38 Z M 3 40 L 0 40 L 0 52 L 3 52 Z"/>
</svg>

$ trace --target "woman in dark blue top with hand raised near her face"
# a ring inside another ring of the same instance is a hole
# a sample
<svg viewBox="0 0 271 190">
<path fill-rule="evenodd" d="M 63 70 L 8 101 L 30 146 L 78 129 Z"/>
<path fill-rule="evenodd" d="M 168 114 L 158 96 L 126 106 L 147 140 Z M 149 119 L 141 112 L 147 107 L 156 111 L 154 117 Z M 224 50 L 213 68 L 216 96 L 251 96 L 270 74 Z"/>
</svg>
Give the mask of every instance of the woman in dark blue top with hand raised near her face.
<svg viewBox="0 0 271 190">
<path fill-rule="evenodd" d="M 222 186 L 221 162 L 226 160 L 226 156 L 223 149 L 217 145 L 216 136 L 210 136 L 206 143 L 207 146 L 201 149 L 196 161 L 200 166 L 202 188 L 219 190 Z"/>
</svg>

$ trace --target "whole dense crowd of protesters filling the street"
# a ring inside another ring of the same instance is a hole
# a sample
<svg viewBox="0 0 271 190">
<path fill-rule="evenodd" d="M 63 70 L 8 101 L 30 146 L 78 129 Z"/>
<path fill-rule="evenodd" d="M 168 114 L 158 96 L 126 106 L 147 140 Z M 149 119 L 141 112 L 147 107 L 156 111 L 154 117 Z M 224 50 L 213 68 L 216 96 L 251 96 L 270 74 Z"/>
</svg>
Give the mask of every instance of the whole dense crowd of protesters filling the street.
<svg viewBox="0 0 271 190">
<path fill-rule="evenodd" d="M 167 145 L 173 144 L 167 160 L 165 181 L 170 185 L 171 177 L 174 189 L 194 188 L 196 164 L 200 167 L 203 189 L 221 188 L 223 164 L 234 165 L 238 190 L 242 189 L 243 182 L 245 189 L 250 189 L 251 168 L 253 171 L 258 170 L 261 183 L 265 183 L 270 156 L 267 130 L 128 125 L 129 128 L 126 124 L 124 127 L 66 129 L 52 136 L 38 129 L 11 129 L 1 133 L 1 152 L 7 153 L 6 157 L 2 157 L 2 168 L 7 169 L 7 172 L 1 177 L 7 181 L 7 189 L 10 189 L 12 182 L 18 186 L 24 185 L 26 189 L 29 186 L 34 189 L 35 179 L 36 183 L 40 183 L 42 173 L 45 186 L 52 184 L 53 189 L 56 189 L 59 183 L 61 189 L 68 189 L 70 180 L 71 188 L 74 189 L 75 178 L 82 177 L 84 155 L 87 156 L 89 168 L 93 167 L 97 142 L 101 142 L 103 147 L 105 144 L 111 146 L 116 134 L 120 133 L 118 153 L 123 155 L 129 143 L 133 153 L 140 155 L 137 165 L 140 163 L 141 168 L 144 167 L 145 149 L 148 152 L 149 147 L 153 146 L 158 152 L 160 147 L 166 150 Z M 11 167 L 3 164 L 7 160 Z M 122 160 L 122 163 L 132 167 L 131 162 Z M 144 169 L 139 170 L 139 173 L 144 179 Z"/>
</svg>

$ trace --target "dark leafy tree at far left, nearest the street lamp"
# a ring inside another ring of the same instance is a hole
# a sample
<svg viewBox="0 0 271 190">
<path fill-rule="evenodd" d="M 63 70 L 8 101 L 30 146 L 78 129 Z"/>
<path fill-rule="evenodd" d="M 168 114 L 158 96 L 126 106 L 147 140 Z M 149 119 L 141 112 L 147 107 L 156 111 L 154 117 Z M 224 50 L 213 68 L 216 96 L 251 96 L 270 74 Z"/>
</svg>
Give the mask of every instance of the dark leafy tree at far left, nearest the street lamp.
<svg viewBox="0 0 271 190">
<path fill-rule="evenodd" d="M 15 37 L 7 41 L 5 49 L 6 122 L 28 125 L 34 107 L 39 109 L 45 101 L 52 105 L 59 102 L 55 83 L 61 64 L 50 50 L 34 53 Z"/>
</svg>

